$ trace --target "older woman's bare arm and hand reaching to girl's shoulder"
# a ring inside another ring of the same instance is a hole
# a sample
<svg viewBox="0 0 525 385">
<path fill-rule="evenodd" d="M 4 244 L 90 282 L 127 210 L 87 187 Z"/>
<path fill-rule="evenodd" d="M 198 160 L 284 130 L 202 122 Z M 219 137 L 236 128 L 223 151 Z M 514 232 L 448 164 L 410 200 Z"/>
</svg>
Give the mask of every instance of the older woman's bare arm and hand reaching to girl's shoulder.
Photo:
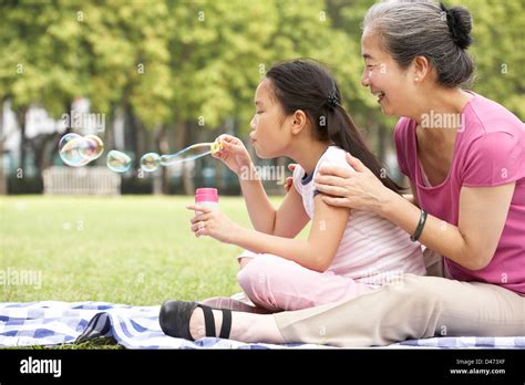
<svg viewBox="0 0 525 385">
<path fill-rule="evenodd" d="M 315 179 L 329 205 L 375 211 L 412 235 L 421 210 L 385 188 L 359 159 L 347 154 L 357 173 L 321 167 Z M 325 175 L 326 174 L 326 175 Z M 500 242 L 515 183 L 496 187 L 463 187 L 457 226 L 429 215 L 420 242 L 470 270 L 486 267 Z"/>
</svg>

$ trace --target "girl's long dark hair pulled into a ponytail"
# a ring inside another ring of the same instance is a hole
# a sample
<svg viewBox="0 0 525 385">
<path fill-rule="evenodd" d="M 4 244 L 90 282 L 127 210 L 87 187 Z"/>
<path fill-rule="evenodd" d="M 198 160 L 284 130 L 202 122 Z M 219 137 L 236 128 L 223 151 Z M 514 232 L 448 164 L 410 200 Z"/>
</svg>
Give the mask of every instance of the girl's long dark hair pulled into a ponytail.
<svg viewBox="0 0 525 385">
<path fill-rule="evenodd" d="M 316 138 L 332 142 L 359 158 L 385 187 L 404 189 L 383 174 L 378 158 L 368 148 L 350 115 L 341 106 L 341 93 L 330 73 L 312 60 L 275 64 L 266 74 L 286 115 L 301 110 L 310 119 Z"/>
</svg>

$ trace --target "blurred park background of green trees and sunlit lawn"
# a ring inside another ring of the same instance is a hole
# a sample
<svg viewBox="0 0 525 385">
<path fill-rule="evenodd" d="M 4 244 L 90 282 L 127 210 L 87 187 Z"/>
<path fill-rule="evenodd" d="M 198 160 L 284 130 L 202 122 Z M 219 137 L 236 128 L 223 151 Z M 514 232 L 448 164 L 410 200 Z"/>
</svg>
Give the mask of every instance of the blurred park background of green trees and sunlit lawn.
<svg viewBox="0 0 525 385">
<path fill-rule="evenodd" d="M 246 139 L 255 89 L 280 60 L 312 58 L 329 66 L 343 105 L 400 180 L 392 145 L 395 118 L 383 116 L 360 84 L 360 25 L 372 3 L 2 2 L 0 194 L 7 196 L 0 197 L 0 301 L 147 305 L 239 291 L 235 257 L 240 249 L 195 239 L 192 212 L 185 209 L 195 188 L 217 187 L 220 209 L 249 226 L 235 176 L 212 157 L 141 175 L 138 159 L 148 152 L 174 153 L 210 142 L 222 133 Z M 523 119 L 524 1 L 459 3 L 474 18 L 470 52 L 477 71 L 472 90 Z M 104 155 L 82 169 L 105 167 L 110 149 L 132 157 L 133 167 L 119 175 L 117 195 L 42 195 L 44 170 L 66 168 L 58 143 L 75 129 L 61 117 L 74 110 L 104 116 L 104 129 L 96 132 Z M 289 162 L 255 160 L 274 166 Z M 282 185 L 265 180 L 265 186 L 277 205 Z M 6 281 L 24 271 L 39 273 L 41 282 Z"/>
</svg>

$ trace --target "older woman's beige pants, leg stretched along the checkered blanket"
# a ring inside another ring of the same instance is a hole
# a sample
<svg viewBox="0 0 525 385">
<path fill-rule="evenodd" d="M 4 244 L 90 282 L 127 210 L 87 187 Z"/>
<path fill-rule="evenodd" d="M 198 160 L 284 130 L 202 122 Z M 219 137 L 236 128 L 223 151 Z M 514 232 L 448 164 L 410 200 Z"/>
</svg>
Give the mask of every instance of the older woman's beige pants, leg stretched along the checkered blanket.
<svg viewBox="0 0 525 385">
<path fill-rule="evenodd" d="M 287 342 L 336 346 L 525 335 L 525 296 L 495 284 L 442 278 L 441 256 L 429 249 L 424 256 L 426 277 L 405 274 L 350 301 L 276 313 L 277 325 Z"/>
</svg>

